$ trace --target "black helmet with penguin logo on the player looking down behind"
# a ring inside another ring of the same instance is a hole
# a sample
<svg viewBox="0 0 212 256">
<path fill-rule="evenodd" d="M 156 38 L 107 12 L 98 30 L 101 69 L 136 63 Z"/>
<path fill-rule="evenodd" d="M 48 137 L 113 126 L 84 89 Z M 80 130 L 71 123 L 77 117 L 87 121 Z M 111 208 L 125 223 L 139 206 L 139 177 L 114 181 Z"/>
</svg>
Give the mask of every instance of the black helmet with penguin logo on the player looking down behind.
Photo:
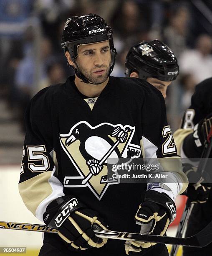
<svg viewBox="0 0 212 256">
<path fill-rule="evenodd" d="M 142 41 L 129 50 L 125 61 L 125 74 L 137 72 L 139 78 L 154 77 L 162 81 L 175 80 L 179 66 L 172 50 L 159 40 Z"/>
</svg>

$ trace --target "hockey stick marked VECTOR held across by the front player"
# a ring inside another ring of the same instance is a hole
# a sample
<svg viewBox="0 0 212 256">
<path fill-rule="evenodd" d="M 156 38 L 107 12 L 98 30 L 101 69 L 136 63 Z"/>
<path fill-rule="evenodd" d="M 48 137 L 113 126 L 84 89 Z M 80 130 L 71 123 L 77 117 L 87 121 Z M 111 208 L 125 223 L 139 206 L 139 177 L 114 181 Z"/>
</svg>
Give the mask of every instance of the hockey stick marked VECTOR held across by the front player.
<svg viewBox="0 0 212 256">
<path fill-rule="evenodd" d="M 13 230 L 28 230 L 38 232 L 58 233 L 58 230 L 50 228 L 46 225 L 16 223 L 16 222 L 0 222 L 0 228 Z M 143 241 L 153 243 L 177 244 L 191 247 L 204 247 L 212 241 L 212 221 L 203 228 L 199 233 L 187 238 L 177 238 L 169 236 L 155 236 L 146 234 L 136 234 L 111 230 L 93 230 L 95 235 L 100 238 L 110 238 L 128 241 Z"/>
</svg>

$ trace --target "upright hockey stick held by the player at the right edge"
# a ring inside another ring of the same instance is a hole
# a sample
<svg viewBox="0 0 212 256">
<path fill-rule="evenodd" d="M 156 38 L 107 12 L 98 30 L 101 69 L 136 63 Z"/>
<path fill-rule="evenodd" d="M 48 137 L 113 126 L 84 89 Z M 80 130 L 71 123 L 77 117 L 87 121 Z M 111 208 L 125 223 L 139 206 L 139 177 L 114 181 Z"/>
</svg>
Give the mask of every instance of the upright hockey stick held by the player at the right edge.
<svg viewBox="0 0 212 256">
<path fill-rule="evenodd" d="M 197 184 L 200 184 L 204 180 L 204 178 L 203 178 L 204 177 L 204 170 L 205 170 L 205 167 L 207 165 L 207 160 L 209 158 L 210 152 L 212 150 L 212 139 L 211 139 L 211 137 L 212 137 L 212 127 L 210 128 L 209 134 L 207 136 L 208 143 L 204 147 L 204 150 L 203 150 L 202 156 L 201 156 L 201 160 L 200 160 L 199 165 L 197 167 L 197 173 L 201 173 L 201 177 L 200 177 L 199 181 L 197 182 Z M 178 228 L 177 228 L 176 237 L 182 238 L 184 230 L 185 230 L 186 225 L 187 225 L 187 220 L 189 219 L 189 215 L 192 212 L 193 206 L 194 206 L 194 204 L 191 203 L 188 199 L 187 202 L 186 202 L 186 206 L 185 206 L 184 212 L 182 214 L 180 223 L 179 223 Z M 176 256 L 178 249 L 179 249 L 179 245 L 173 245 L 170 256 Z"/>
</svg>

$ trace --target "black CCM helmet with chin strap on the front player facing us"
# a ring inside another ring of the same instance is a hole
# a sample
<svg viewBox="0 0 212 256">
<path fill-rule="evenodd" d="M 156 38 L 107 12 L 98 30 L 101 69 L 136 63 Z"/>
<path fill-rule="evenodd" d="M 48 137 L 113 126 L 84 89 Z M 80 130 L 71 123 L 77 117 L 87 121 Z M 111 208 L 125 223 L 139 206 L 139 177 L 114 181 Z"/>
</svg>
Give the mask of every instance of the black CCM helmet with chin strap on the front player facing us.
<svg viewBox="0 0 212 256">
<path fill-rule="evenodd" d="M 77 46 L 81 44 L 92 44 L 109 40 L 112 64 L 109 74 L 113 71 L 116 57 L 116 49 L 112 37 L 112 28 L 106 21 L 96 14 L 88 14 L 83 16 L 72 16 L 66 20 L 61 46 L 64 51 L 69 51 L 72 61 L 76 64 L 78 56 Z M 74 68 L 74 67 L 73 67 Z M 77 68 L 74 71 L 83 82 L 89 83 L 88 79 Z"/>
</svg>

